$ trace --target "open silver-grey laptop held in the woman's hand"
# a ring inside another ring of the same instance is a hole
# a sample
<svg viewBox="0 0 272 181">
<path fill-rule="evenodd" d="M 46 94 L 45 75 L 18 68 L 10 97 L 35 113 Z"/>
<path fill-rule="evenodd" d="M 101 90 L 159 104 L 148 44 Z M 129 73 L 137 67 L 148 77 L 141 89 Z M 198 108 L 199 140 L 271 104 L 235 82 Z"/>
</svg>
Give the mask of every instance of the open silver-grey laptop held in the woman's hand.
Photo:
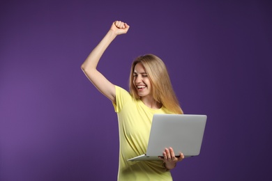
<svg viewBox="0 0 272 181">
<path fill-rule="evenodd" d="M 206 115 L 154 114 L 146 154 L 128 161 L 160 160 L 165 148 L 172 147 L 176 157 L 199 155 L 206 126 Z"/>
</svg>

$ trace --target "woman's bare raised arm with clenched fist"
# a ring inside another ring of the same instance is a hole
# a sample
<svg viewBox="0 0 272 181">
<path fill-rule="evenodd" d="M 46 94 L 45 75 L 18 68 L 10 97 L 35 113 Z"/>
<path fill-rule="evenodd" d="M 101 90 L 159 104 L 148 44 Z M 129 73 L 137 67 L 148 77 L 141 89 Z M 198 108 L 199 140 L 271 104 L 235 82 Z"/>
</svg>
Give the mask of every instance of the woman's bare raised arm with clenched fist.
<svg viewBox="0 0 272 181">
<path fill-rule="evenodd" d="M 97 69 L 98 62 L 109 46 L 109 44 L 116 38 L 116 36 L 123 33 L 127 33 L 130 26 L 124 22 L 116 21 L 112 23 L 111 28 L 105 35 L 105 37 L 99 42 L 99 44 L 93 49 L 93 51 L 86 58 L 81 68 L 86 74 L 86 77 L 91 83 L 96 86 L 98 91 L 103 93 L 112 102 L 115 102 L 115 88 L 114 84 L 106 79 Z"/>
</svg>

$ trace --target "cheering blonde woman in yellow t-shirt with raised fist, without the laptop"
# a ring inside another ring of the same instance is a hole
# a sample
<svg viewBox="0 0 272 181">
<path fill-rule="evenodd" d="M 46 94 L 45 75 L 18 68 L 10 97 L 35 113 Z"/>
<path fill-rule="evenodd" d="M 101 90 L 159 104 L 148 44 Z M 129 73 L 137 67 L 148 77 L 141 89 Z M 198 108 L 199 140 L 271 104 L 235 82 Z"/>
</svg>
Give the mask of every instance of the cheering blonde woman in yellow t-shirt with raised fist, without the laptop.
<svg viewBox="0 0 272 181">
<path fill-rule="evenodd" d="M 128 162 L 142 155 L 151 129 L 154 113 L 183 113 L 173 91 L 163 61 L 153 54 L 139 56 L 130 71 L 130 93 L 109 82 L 97 69 L 98 61 L 116 36 L 127 33 L 130 26 L 116 21 L 89 54 L 82 70 L 91 83 L 112 101 L 119 122 L 118 180 L 172 180 L 169 170 L 184 156 L 175 157 L 172 148 L 165 148 L 162 161 Z"/>
</svg>

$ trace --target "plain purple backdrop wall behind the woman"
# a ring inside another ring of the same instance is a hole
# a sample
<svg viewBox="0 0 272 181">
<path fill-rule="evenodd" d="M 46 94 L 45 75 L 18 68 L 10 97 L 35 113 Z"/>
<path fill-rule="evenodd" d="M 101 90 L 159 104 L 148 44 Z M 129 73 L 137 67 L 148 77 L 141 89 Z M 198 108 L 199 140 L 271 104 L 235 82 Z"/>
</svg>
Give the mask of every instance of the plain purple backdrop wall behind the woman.
<svg viewBox="0 0 272 181">
<path fill-rule="evenodd" d="M 271 180 L 271 1 L 1 1 L 0 180 L 116 180 L 112 103 L 80 65 L 114 20 L 98 68 L 128 88 L 133 59 L 166 63 L 185 113 L 208 116 L 174 180 Z"/>
</svg>

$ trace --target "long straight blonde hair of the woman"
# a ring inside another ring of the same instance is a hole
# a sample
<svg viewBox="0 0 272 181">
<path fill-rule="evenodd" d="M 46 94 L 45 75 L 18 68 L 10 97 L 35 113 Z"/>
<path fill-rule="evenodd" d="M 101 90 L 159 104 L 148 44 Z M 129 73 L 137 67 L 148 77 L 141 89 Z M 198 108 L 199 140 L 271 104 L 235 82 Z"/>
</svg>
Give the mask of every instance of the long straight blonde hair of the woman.
<svg viewBox="0 0 272 181">
<path fill-rule="evenodd" d="M 146 70 L 149 80 L 151 81 L 153 98 L 157 102 L 163 104 L 163 106 L 169 111 L 173 113 L 183 113 L 179 105 L 179 101 L 176 98 L 176 94 L 174 93 L 165 63 L 163 63 L 158 56 L 153 54 L 138 56 L 135 58 L 135 61 L 133 61 L 130 70 L 130 94 L 136 100 L 140 99 L 137 89 L 133 84 L 133 72 L 137 63 L 142 63 Z"/>
</svg>

